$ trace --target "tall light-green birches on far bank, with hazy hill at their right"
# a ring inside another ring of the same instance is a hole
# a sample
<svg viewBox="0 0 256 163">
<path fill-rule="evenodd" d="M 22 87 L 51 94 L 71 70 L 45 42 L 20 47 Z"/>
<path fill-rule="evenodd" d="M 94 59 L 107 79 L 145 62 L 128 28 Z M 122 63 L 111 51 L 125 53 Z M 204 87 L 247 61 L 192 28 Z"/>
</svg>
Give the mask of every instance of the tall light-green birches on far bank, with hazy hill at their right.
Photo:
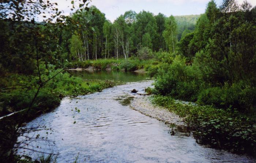
<svg viewBox="0 0 256 163">
<path fill-rule="evenodd" d="M 77 23 L 68 27 L 63 39 L 67 40 L 65 53 L 69 60 L 84 61 L 97 58 L 129 58 L 136 56 L 141 47 L 153 51 L 169 51 L 169 46 L 179 41 L 182 35 L 195 29 L 198 16 L 173 16 L 167 18 L 159 13 L 127 11 L 113 23 L 95 6 L 89 12 L 78 10 L 71 15 Z M 168 28 L 172 28 L 169 29 Z M 178 29 L 178 30 L 177 30 Z M 185 33 L 184 33 L 185 31 Z M 173 32 L 173 33 L 172 33 Z M 170 37 L 172 41 L 170 41 Z"/>
</svg>

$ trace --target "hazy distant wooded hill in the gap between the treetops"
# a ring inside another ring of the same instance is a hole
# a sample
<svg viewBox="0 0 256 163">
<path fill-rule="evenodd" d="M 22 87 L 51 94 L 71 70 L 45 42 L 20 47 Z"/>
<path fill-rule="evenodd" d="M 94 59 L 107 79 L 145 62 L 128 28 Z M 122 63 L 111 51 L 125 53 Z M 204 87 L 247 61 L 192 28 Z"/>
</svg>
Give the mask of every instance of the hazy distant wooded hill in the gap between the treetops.
<svg viewBox="0 0 256 163">
<path fill-rule="evenodd" d="M 200 15 L 181 15 L 174 16 L 178 25 L 178 41 L 185 36 L 187 33 L 191 33 L 195 30 L 195 24 L 199 19 Z"/>
</svg>

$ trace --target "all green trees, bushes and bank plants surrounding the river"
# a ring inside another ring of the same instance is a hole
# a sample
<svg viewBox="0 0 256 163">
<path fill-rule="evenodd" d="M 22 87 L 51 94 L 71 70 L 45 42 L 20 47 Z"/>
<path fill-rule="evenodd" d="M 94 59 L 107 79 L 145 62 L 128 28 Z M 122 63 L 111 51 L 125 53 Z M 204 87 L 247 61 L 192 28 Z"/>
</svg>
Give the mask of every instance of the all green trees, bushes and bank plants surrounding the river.
<svg viewBox="0 0 256 163">
<path fill-rule="evenodd" d="M 144 69 L 154 77 L 151 101 L 183 117 L 198 143 L 255 157 L 255 6 L 211 0 L 201 15 L 130 10 L 110 22 L 87 0 L 79 3 L 71 1 L 74 12 L 64 16 L 49 1 L 0 1 L 0 115 L 21 111 L 0 119 L 3 160 L 20 159 L 19 128 L 65 96 L 123 84 L 66 71 L 90 66 Z"/>
</svg>

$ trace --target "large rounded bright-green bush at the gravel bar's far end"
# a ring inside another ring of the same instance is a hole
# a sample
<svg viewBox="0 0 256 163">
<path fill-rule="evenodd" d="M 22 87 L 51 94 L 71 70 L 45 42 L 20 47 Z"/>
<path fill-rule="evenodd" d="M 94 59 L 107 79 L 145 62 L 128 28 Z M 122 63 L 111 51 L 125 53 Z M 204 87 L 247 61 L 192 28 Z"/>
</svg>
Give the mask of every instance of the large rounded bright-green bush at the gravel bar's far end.
<svg viewBox="0 0 256 163">
<path fill-rule="evenodd" d="M 173 64 L 162 64 L 158 71 L 155 89 L 161 95 L 170 95 L 176 99 L 196 101 L 202 86 L 198 73 L 185 60 L 176 57 Z"/>
</svg>

